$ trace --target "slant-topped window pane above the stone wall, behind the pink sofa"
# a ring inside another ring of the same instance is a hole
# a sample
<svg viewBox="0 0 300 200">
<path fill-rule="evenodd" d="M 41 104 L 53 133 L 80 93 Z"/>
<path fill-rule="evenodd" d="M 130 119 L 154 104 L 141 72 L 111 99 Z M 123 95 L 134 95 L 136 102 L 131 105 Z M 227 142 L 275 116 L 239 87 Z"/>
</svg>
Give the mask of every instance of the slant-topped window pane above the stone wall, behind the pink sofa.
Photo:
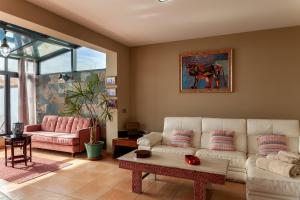
<svg viewBox="0 0 300 200">
<path fill-rule="evenodd" d="M 41 74 L 53 74 L 53 73 L 70 72 L 70 71 L 71 71 L 71 52 L 61 54 L 59 56 L 50 58 L 40 63 Z"/>
</svg>

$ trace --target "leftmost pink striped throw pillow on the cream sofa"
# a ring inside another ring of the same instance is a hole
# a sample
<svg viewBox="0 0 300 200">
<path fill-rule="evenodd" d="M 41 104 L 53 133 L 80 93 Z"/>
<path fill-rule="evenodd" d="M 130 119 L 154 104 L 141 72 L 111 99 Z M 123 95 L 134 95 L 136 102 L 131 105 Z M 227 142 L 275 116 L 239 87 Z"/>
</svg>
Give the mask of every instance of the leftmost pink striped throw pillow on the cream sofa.
<svg viewBox="0 0 300 200">
<path fill-rule="evenodd" d="M 191 147 L 192 137 L 192 130 L 174 130 L 171 136 L 171 146 L 183 148 Z"/>
</svg>

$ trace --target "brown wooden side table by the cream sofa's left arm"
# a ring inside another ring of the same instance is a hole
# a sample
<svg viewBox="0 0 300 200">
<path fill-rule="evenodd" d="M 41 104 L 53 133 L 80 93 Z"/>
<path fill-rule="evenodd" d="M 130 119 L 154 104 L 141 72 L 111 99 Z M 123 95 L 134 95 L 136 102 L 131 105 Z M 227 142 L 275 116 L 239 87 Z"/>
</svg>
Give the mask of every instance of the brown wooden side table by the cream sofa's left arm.
<svg viewBox="0 0 300 200">
<path fill-rule="evenodd" d="M 138 138 L 115 138 L 112 140 L 112 150 L 113 150 L 113 158 L 117 158 L 121 156 L 119 153 L 119 149 L 121 147 L 129 147 L 131 149 L 137 149 L 137 139 Z"/>
</svg>

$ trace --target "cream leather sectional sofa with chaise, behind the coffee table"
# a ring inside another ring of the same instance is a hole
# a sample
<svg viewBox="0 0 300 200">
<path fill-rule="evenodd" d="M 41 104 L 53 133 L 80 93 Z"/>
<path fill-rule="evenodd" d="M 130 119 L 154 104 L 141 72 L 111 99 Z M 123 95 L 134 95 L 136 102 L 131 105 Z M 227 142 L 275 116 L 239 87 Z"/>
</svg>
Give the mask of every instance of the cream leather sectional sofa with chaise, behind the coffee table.
<svg viewBox="0 0 300 200">
<path fill-rule="evenodd" d="M 190 148 L 169 146 L 175 129 L 193 130 Z M 236 151 L 210 150 L 210 132 L 230 130 L 235 132 Z M 291 152 L 300 152 L 299 121 L 271 119 L 223 119 L 202 117 L 167 117 L 164 130 L 152 132 L 138 140 L 139 149 L 155 152 L 194 154 L 201 157 L 221 158 L 230 161 L 227 178 L 246 183 L 247 199 L 300 199 L 300 177 L 285 178 L 256 168 L 257 137 L 263 134 L 284 134 L 288 137 Z"/>
</svg>

